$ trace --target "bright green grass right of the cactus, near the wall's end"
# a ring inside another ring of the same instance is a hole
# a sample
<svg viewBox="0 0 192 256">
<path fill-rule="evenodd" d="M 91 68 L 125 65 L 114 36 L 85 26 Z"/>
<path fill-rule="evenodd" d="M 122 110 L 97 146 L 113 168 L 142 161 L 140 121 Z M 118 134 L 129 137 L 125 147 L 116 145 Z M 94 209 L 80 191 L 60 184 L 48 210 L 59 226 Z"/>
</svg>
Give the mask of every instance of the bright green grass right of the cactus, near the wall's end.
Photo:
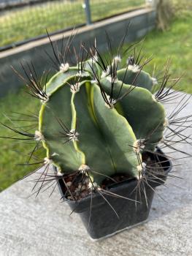
<svg viewBox="0 0 192 256">
<path fill-rule="evenodd" d="M 153 31 L 147 35 L 145 50 L 147 56 L 153 54 L 153 61 L 146 70 L 153 72 L 154 64 L 162 70 L 166 60 L 170 57 L 172 65 L 170 71 L 174 78 L 182 75 L 177 89 L 192 94 L 192 13 L 176 18 L 166 32 Z"/>
</svg>

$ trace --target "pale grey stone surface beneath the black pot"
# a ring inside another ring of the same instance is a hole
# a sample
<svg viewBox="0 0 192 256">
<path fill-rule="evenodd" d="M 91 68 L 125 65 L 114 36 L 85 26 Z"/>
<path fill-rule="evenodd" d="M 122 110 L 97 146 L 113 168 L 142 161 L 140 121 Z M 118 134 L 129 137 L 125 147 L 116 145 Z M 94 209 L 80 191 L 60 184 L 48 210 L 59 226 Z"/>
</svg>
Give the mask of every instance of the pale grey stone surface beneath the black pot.
<svg viewBox="0 0 192 256">
<path fill-rule="evenodd" d="M 191 109 L 192 102 L 185 116 Z M 180 148 L 192 153 L 190 146 Z M 19 181 L 0 194 L 0 256 L 191 256 L 192 159 L 173 165 L 172 175 L 181 178 L 169 177 L 166 187 L 156 189 L 148 222 L 103 241 L 91 241 L 77 214 L 60 202 L 58 189 L 34 198 L 32 184 Z"/>
</svg>

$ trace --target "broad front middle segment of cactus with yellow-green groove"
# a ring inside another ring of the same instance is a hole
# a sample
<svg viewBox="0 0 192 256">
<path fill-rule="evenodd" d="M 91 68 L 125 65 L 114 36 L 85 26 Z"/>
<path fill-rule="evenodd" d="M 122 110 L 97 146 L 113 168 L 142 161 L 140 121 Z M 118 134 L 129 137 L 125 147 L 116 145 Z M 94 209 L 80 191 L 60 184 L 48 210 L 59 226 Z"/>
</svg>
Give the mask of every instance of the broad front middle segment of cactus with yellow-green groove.
<svg viewBox="0 0 192 256">
<path fill-rule="evenodd" d="M 111 110 L 106 107 L 99 86 L 91 83 L 86 86 L 87 89 L 84 84 L 80 93 L 74 95 L 77 116 L 80 116 L 77 118 L 80 132 L 77 144 L 85 154 L 86 165 L 93 172 L 101 173 L 102 170 L 107 176 L 127 170 L 132 176 L 137 176 L 137 156 L 129 146 L 136 140 L 134 132 L 115 108 Z M 91 108 L 88 108 L 89 104 Z M 120 122 L 117 123 L 118 118 Z M 123 140 L 125 135 L 126 141 Z M 104 176 L 94 174 L 93 178 L 100 184 Z"/>
</svg>

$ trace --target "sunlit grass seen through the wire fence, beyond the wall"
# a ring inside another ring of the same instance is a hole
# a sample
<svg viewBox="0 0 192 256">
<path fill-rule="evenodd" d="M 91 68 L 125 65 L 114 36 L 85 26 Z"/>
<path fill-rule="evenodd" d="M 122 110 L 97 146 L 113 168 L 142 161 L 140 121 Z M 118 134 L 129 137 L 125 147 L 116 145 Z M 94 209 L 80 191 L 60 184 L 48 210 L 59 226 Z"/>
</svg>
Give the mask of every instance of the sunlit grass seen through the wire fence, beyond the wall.
<svg viewBox="0 0 192 256">
<path fill-rule="evenodd" d="M 61 29 L 76 26 L 86 22 L 82 0 L 53 1 L 32 7 L 1 13 L 0 16 L 0 47 L 23 39 L 37 37 Z M 127 12 L 144 4 L 143 0 L 91 0 L 92 20 Z"/>
</svg>

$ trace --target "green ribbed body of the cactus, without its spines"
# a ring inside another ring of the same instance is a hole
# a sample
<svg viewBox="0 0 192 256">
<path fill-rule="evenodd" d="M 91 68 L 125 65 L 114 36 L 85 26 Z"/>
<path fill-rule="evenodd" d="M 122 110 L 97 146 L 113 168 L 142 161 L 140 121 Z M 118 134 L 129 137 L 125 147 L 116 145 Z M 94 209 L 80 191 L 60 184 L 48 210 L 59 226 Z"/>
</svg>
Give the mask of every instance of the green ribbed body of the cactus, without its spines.
<svg viewBox="0 0 192 256">
<path fill-rule="evenodd" d="M 78 67 L 69 67 L 47 83 L 49 99 L 39 113 L 47 158 L 66 174 L 87 165 L 98 185 L 116 173 L 138 177 L 142 151 L 153 151 L 164 132 L 165 110 L 150 92 L 152 78 L 124 68 L 116 69 L 112 82 L 112 72 L 108 74 L 94 58 L 82 66 L 83 74 Z M 77 91 L 72 91 L 74 84 Z M 118 103 L 107 105 L 104 97 L 111 93 Z M 138 140 L 145 140 L 144 148 L 135 148 Z"/>
</svg>

